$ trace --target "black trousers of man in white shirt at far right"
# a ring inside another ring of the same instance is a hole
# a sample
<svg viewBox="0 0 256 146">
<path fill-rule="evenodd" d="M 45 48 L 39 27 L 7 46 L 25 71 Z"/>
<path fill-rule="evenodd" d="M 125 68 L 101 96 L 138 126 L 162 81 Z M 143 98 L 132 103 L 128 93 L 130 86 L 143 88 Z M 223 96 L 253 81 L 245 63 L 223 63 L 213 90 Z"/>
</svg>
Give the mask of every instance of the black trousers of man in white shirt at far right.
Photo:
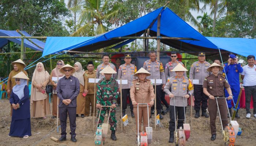
<svg viewBox="0 0 256 146">
<path fill-rule="evenodd" d="M 250 107 L 251 107 L 251 97 L 253 100 L 253 115 L 256 114 L 256 85 L 255 86 L 245 86 L 245 109 L 246 114 L 251 114 Z"/>
</svg>

